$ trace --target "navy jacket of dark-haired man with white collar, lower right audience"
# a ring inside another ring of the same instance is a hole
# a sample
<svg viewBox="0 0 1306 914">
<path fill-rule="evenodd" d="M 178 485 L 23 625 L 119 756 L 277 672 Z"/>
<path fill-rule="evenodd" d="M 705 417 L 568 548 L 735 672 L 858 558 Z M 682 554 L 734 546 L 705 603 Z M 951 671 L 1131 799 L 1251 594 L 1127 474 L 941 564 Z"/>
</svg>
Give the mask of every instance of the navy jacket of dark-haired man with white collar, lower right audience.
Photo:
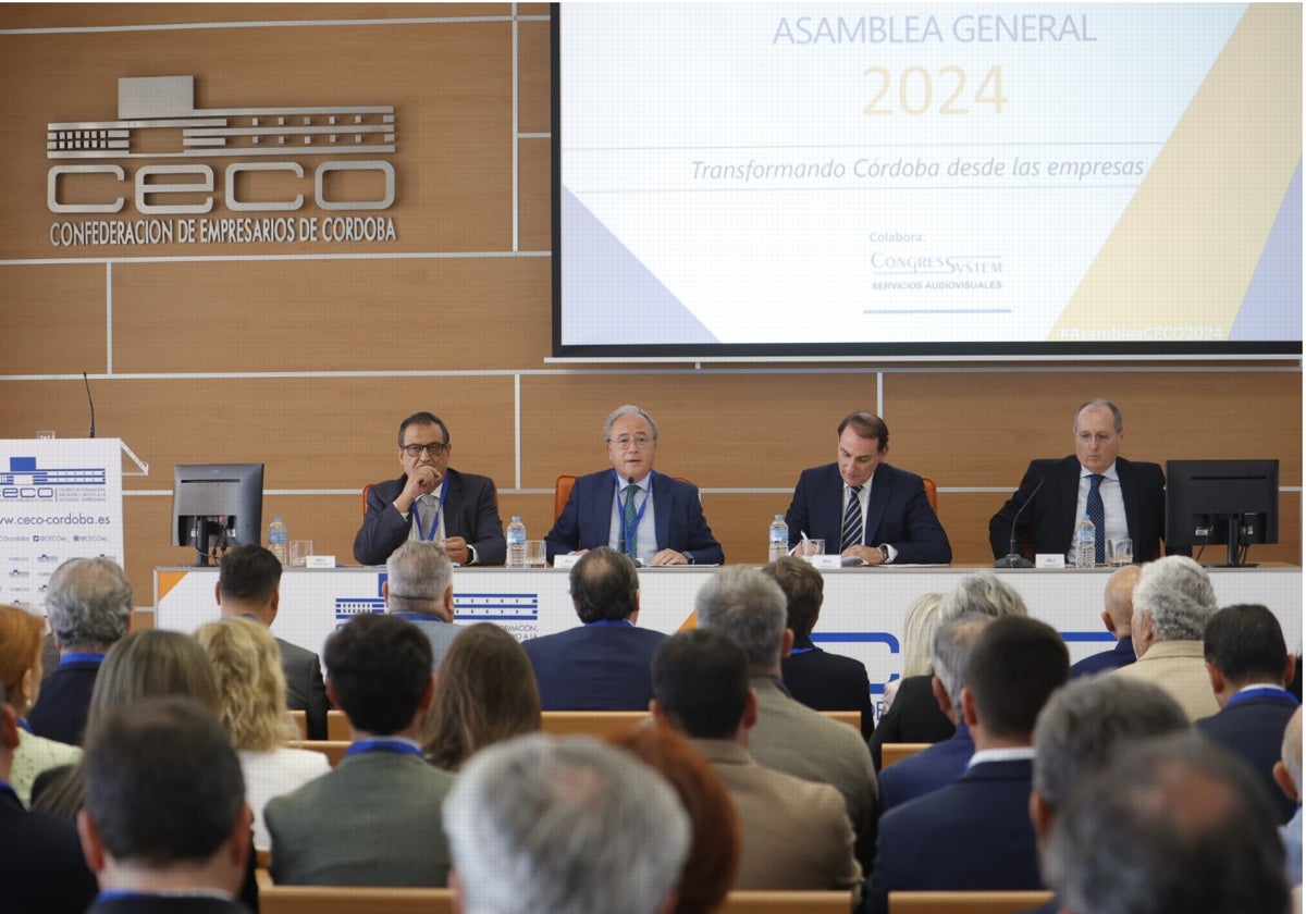
<svg viewBox="0 0 1306 914">
<path fill-rule="evenodd" d="M 1042 889 L 1032 780 L 1030 760 L 986 761 L 885 812 L 868 911 L 885 914 L 895 890 Z"/>
</svg>

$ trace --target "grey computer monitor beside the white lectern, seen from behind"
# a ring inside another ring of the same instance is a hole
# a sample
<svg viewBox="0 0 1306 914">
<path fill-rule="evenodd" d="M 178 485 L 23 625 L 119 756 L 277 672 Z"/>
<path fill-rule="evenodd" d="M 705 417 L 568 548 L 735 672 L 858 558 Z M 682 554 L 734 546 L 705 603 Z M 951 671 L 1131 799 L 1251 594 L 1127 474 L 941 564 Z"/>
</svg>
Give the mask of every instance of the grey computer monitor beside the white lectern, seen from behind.
<svg viewBox="0 0 1306 914">
<path fill-rule="evenodd" d="M 257 543 L 263 530 L 263 464 L 178 464 L 172 473 L 172 544 L 192 546 L 209 564 L 229 546 Z"/>
</svg>

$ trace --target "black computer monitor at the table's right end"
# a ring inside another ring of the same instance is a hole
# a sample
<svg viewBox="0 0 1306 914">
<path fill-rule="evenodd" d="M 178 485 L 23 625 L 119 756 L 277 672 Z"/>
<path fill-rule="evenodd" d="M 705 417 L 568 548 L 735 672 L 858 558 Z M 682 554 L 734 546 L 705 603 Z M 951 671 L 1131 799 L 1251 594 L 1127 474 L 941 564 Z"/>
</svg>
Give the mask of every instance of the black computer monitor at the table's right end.
<svg viewBox="0 0 1306 914">
<path fill-rule="evenodd" d="M 1225 546 L 1226 560 L 1211 564 L 1234 568 L 1250 567 L 1251 543 L 1277 542 L 1277 460 L 1166 461 L 1166 548 L 1196 548 L 1200 555 L 1205 546 Z"/>
</svg>

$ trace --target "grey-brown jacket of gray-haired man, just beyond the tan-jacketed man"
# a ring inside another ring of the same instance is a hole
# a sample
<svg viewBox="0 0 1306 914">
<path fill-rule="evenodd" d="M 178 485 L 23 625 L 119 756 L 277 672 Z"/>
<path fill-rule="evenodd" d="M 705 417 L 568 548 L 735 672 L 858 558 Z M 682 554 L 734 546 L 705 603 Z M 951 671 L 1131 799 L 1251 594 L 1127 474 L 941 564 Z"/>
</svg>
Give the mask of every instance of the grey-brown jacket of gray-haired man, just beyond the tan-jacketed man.
<svg viewBox="0 0 1306 914">
<path fill-rule="evenodd" d="M 757 726 L 748 731 L 748 755 L 767 768 L 838 789 L 857 832 L 857 859 L 875 860 L 879 785 L 862 734 L 791 699 L 774 679 L 755 676 Z"/>
</svg>

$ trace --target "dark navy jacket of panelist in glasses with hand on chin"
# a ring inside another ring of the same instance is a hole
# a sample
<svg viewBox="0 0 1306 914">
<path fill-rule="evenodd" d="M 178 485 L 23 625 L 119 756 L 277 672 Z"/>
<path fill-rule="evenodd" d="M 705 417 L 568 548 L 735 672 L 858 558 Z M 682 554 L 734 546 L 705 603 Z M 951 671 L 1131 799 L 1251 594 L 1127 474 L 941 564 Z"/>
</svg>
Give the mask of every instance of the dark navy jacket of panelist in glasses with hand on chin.
<svg viewBox="0 0 1306 914">
<path fill-rule="evenodd" d="M 499 520 L 499 500 L 494 481 L 471 473 L 449 470 L 444 492 L 444 534 L 462 537 L 477 550 L 477 564 L 502 565 L 508 554 Z M 407 475 L 372 484 L 367 492 L 367 516 L 354 537 L 354 560 L 360 565 L 383 565 L 413 531 L 413 512 L 407 520 L 394 507 Z"/>
</svg>

